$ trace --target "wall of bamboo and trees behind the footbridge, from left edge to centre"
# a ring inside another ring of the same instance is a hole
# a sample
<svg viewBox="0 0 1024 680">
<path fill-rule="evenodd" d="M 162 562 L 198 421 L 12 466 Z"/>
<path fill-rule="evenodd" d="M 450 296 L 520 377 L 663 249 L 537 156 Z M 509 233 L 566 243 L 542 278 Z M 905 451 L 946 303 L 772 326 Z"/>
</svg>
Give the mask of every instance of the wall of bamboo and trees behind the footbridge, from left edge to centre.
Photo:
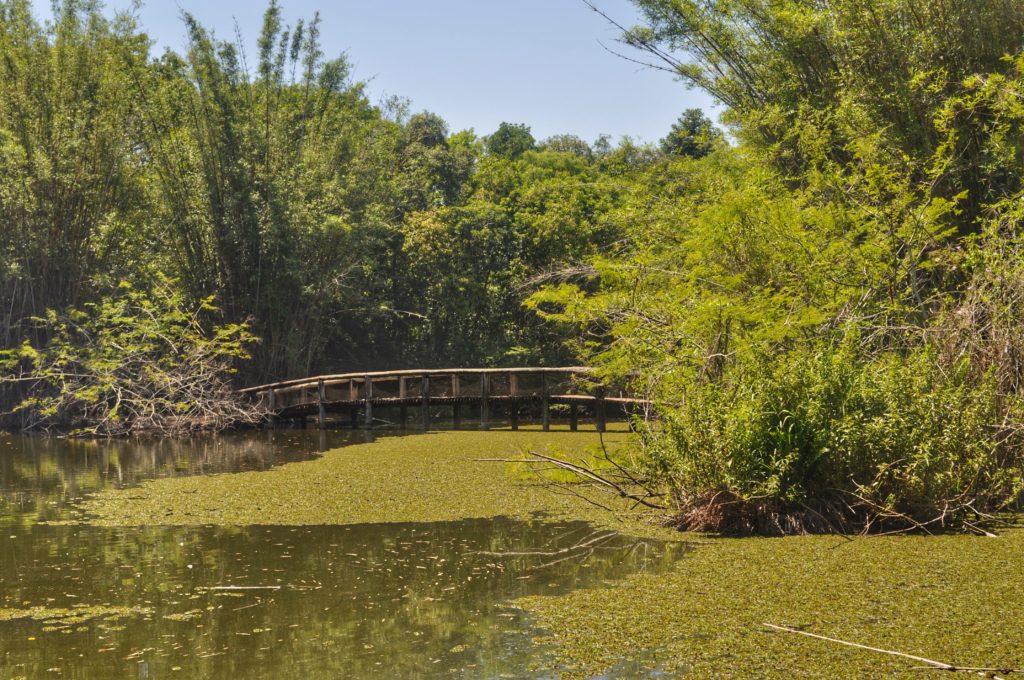
<svg viewBox="0 0 1024 680">
<path fill-rule="evenodd" d="M 169 278 L 260 338 L 240 382 L 568 358 L 523 291 L 618 238 L 618 150 L 374 105 L 276 2 L 255 58 L 184 18 L 155 56 L 97 2 L 0 0 L 0 345 Z"/>
</svg>

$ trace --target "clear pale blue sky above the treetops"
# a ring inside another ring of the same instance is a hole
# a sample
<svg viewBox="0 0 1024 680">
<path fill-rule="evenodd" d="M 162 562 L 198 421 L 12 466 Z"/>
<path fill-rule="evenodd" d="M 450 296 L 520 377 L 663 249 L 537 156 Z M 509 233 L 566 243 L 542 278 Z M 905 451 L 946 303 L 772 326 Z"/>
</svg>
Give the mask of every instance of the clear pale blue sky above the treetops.
<svg viewBox="0 0 1024 680">
<path fill-rule="evenodd" d="M 49 16 L 49 0 L 34 0 Z M 130 0 L 106 0 L 113 11 Z M 372 99 L 399 95 L 413 111 L 443 117 L 453 130 L 493 132 L 525 123 L 535 136 L 599 134 L 656 141 L 684 109 L 712 100 L 669 74 L 645 71 L 608 53 L 616 32 L 582 0 L 282 0 L 294 25 L 319 10 L 325 52 L 345 52 Z M 622 24 L 637 23 L 628 0 L 598 0 Z M 147 0 L 140 23 L 157 50 L 180 50 L 181 10 L 218 37 L 233 39 L 236 20 L 249 54 L 266 4 L 252 0 Z"/>
</svg>

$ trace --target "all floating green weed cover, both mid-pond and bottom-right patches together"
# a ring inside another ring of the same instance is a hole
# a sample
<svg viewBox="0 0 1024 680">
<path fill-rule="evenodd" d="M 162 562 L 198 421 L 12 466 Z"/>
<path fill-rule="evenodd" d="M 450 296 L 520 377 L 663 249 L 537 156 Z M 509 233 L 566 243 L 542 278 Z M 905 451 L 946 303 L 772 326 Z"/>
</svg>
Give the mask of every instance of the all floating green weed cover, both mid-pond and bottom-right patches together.
<svg viewBox="0 0 1024 680">
<path fill-rule="evenodd" d="M 606 441 L 621 445 L 626 436 Z M 527 449 L 581 455 L 597 443 L 596 435 L 567 432 L 384 438 L 267 472 L 103 492 L 85 509 L 103 525 L 429 522 L 544 512 L 699 541 L 668 573 L 516 602 L 549 631 L 538 642 L 554 643 L 567 677 L 631 664 L 696 678 L 883 678 L 919 666 L 772 632 L 765 623 L 965 666 L 1024 667 L 1024 530 L 995 539 L 708 540 L 621 519 L 506 465 L 479 462 Z"/>
</svg>

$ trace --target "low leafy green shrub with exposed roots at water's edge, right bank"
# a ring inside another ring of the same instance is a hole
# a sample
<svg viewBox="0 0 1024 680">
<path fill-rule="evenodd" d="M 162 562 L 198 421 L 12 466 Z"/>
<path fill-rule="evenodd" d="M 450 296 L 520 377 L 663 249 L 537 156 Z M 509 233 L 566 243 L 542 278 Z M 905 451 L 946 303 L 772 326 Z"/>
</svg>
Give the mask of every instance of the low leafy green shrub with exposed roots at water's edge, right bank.
<svg viewBox="0 0 1024 680">
<path fill-rule="evenodd" d="M 1016 402 L 967 359 L 837 346 L 692 384 L 645 431 L 689 529 L 790 534 L 972 524 L 1021 493 Z"/>
</svg>

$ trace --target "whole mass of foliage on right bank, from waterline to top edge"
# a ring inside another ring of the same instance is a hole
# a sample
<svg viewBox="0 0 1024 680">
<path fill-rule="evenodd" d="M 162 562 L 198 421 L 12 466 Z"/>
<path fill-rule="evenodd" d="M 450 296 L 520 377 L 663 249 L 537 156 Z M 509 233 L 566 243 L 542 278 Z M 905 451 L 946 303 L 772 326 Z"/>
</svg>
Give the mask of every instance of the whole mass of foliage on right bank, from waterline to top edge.
<svg viewBox="0 0 1024 680">
<path fill-rule="evenodd" d="M 659 405 L 680 521 L 976 526 L 1024 491 L 1024 5 L 637 0 L 738 142 L 647 171 L 599 284 L 534 305 Z"/>
</svg>

